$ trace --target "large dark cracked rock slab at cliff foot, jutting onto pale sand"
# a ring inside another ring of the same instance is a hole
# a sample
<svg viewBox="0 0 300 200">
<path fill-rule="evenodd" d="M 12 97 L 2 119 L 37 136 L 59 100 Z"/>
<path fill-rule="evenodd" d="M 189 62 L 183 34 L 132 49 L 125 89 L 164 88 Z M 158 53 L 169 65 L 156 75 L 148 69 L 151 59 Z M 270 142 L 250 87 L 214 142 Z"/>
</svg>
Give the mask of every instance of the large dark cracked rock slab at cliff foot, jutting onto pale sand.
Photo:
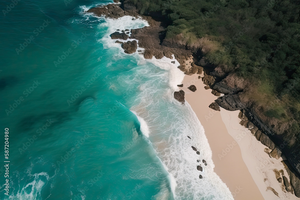
<svg viewBox="0 0 300 200">
<path fill-rule="evenodd" d="M 241 110 L 246 108 L 246 105 L 241 103 L 237 94 L 224 95 L 222 97 L 217 98 L 215 102 L 219 104 L 220 107 L 229 111 Z"/>
</svg>

